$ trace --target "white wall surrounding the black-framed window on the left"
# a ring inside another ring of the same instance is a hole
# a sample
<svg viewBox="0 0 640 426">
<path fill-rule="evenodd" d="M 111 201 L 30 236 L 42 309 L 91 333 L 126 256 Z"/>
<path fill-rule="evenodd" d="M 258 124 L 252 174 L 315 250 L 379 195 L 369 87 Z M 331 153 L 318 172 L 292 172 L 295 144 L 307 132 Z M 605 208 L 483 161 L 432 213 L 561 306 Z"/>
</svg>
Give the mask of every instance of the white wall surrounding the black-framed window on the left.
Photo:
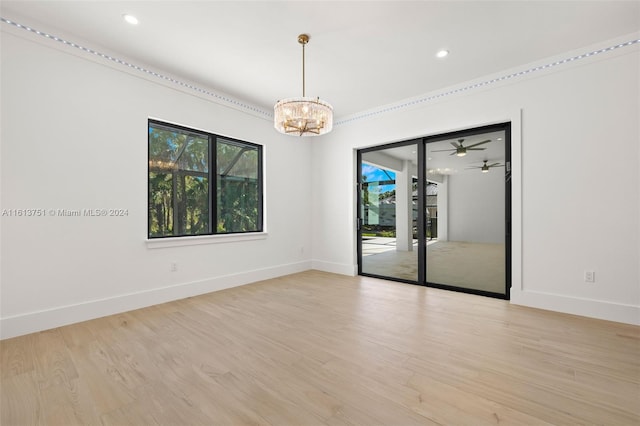
<svg viewBox="0 0 640 426">
<path fill-rule="evenodd" d="M 0 209 L 128 210 L 1 218 L 3 338 L 311 267 L 307 140 L 278 134 L 268 118 L 2 27 Z M 149 117 L 264 145 L 266 238 L 147 247 Z"/>
</svg>

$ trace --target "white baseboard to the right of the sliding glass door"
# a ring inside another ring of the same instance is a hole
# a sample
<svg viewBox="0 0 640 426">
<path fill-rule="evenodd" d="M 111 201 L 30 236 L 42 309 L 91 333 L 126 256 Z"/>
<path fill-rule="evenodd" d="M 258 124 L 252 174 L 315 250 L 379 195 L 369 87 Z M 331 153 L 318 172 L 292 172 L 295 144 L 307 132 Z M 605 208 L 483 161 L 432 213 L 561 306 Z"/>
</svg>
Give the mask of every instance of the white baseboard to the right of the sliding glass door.
<svg viewBox="0 0 640 426">
<path fill-rule="evenodd" d="M 511 303 L 548 311 L 640 325 L 640 306 L 531 290 L 511 290 Z"/>
</svg>

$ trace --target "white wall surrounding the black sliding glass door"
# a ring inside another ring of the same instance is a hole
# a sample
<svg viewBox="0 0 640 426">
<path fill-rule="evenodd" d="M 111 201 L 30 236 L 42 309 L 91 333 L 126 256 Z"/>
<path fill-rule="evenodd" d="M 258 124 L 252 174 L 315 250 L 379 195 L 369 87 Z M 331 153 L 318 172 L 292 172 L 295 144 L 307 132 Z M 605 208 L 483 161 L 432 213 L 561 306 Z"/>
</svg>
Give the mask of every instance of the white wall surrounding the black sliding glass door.
<svg viewBox="0 0 640 426">
<path fill-rule="evenodd" d="M 635 44 L 338 124 L 312 146 L 314 266 L 354 270 L 356 148 L 511 121 L 512 302 L 640 324 L 639 64 Z"/>
</svg>

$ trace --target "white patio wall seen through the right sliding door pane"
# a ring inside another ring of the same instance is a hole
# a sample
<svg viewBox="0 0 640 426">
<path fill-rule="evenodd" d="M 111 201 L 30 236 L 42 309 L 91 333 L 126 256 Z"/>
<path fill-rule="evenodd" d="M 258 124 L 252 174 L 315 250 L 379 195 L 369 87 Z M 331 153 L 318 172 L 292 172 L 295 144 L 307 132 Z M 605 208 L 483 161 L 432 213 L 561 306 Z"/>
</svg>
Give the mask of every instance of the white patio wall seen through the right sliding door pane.
<svg viewBox="0 0 640 426">
<path fill-rule="evenodd" d="M 452 174 L 447 183 L 449 241 L 504 243 L 504 169 Z"/>
</svg>

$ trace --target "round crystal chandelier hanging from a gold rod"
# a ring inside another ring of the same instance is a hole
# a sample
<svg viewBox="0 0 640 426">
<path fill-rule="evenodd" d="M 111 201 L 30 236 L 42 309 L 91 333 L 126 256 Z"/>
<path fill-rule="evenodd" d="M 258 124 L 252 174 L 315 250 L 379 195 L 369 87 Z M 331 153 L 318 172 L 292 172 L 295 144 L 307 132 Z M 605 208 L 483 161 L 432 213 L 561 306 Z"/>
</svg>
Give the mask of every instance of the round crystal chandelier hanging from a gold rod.
<svg viewBox="0 0 640 426">
<path fill-rule="evenodd" d="M 320 98 L 305 96 L 304 46 L 309 42 L 307 34 L 298 36 L 302 45 L 302 97 L 287 98 L 273 107 L 274 127 L 280 133 L 298 136 L 317 136 L 329 133 L 333 128 L 333 108 Z"/>
</svg>

